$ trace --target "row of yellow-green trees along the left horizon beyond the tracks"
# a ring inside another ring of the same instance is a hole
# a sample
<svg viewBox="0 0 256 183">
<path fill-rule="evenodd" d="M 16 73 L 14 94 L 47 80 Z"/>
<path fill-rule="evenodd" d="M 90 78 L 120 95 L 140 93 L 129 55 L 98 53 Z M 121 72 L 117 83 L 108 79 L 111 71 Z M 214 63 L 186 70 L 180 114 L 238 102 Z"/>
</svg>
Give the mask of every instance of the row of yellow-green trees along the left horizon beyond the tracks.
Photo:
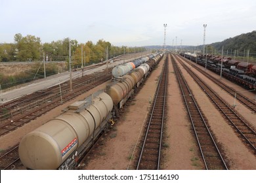
<svg viewBox="0 0 256 183">
<path fill-rule="evenodd" d="M 14 43 L 0 44 L 0 61 L 41 61 L 43 53 L 48 61 L 68 60 L 69 42 L 71 42 L 72 62 L 81 65 L 81 56 L 85 63 L 98 63 L 108 58 L 133 52 L 142 52 L 146 48 L 113 46 L 110 42 L 100 39 L 94 44 L 92 41 L 78 44 L 77 40 L 64 38 L 58 41 L 42 43 L 39 37 L 17 33 Z M 83 49 L 83 54 L 82 54 Z M 107 50 L 108 49 L 108 50 Z"/>
</svg>

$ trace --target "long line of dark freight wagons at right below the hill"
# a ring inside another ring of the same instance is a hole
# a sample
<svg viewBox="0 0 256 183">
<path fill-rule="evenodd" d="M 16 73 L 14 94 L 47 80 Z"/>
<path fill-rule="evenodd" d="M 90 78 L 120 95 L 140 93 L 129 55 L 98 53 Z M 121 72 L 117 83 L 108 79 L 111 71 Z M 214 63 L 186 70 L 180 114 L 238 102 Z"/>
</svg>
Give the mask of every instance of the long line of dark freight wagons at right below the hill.
<svg viewBox="0 0 256 183">
<path fill-rule="evenodd" d="M 256 89 L 256 64 L 245 63 L 230 57 L 213 56 L 210 54 L 199 55 L 190 52 L 180 53 L 184 58 L 190 59 L 207 69 L 222 75 L 229 80 L 249 89 Z"/>
</svg>

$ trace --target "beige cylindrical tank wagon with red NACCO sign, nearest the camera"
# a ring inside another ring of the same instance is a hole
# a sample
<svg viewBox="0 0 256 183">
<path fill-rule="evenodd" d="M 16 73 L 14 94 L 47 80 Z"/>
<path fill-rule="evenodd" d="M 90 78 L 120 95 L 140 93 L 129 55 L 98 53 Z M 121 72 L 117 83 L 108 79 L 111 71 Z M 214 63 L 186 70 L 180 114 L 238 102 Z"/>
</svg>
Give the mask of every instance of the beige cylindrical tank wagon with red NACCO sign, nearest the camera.
<svg viewBox="0 0 256 183">
<path fill-rule="evenodd" d="M 112 98 L 98 93 L 73 103 L 60 116 L 24 136 L 18 149 L 23 165 L 28 169 L 72 169 L 75 159 L 112 116 Z"/>
</svg>

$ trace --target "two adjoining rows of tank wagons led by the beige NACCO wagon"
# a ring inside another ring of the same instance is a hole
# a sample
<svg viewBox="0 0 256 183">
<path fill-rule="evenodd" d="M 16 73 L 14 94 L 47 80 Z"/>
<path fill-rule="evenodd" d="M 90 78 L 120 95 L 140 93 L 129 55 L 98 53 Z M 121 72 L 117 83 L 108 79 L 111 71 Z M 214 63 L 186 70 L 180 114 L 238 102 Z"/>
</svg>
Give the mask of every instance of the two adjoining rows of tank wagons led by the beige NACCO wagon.
<svg viewBox="0 0 256 183">
<path fill-rule="evenodd" d="M 18 148 L 23 165 L 39 170 L 75 169 L 83 154 L 113 122 L 118 109 L 162 57 L 163 53 L 152 54 L 115 67 L 106 90 L 73 103 L 60 116 L 25 135 Z"/>
</svg>

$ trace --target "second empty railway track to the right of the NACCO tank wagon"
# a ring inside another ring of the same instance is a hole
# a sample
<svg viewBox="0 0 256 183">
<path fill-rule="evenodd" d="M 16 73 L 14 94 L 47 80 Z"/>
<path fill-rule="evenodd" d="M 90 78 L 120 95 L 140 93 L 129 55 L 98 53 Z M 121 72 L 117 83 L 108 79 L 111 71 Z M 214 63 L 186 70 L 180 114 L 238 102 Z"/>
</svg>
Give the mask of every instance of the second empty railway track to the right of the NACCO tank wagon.
<svg viewBox="0 0 256 183">
<path fill-rule="evenodd" d="M 205 169 L 228 169 L 223 157 L 221 156 L 221 152 L 213 139 L 209 128 L 207 127 L 207 119 L 203 117 L 203 113 L 194 99 L 193 93 L 190 91 L 190 88 L 182 76 L 173 56 L 171 56 L 171 61 L 181 88 L 184 103 L 188 110 L 190 122 L 192 123 L 192 127 L 196 135 L 196 141 L 198 142 Z"/>
</svg>

